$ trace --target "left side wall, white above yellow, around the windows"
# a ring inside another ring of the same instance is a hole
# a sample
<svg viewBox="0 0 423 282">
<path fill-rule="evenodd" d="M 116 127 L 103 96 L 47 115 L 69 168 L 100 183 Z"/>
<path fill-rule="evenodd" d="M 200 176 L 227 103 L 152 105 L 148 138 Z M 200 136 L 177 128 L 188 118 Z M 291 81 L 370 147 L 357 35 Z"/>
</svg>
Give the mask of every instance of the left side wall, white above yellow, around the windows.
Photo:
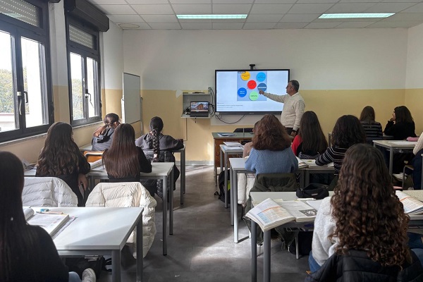
<svg viewBox="0 0 423 282">
<path fill-rule="evenodd" d="M 49 4 L 51 78 L 54 102 L 54 121 L 69 123 L 70 108 L 68 97 L 68 71 L 66 61 L 66 30 L 63 13 L 63 1 Z M 110 23 L 110 30 L 101 35 L 100 50 L 102 54 L 102 113 L 114 111 L 121 115 L 123 73 L 123 32 L 120 27 Z M 78 146 L 91 142 L 92 133 L 102 123 L 82 125 L 74 128 L 73 139 Z M 134 128 L 140 128 L 135 123 Z M 138 130 L 140 131 L 140 130 Z M 44 146 L 46 134 L 23 140 L 13 140 L 0 144 L 0 150 L 16 154 L 20 159 L 31 163 L 37 161 L 38 154 Z"/>
</svg>

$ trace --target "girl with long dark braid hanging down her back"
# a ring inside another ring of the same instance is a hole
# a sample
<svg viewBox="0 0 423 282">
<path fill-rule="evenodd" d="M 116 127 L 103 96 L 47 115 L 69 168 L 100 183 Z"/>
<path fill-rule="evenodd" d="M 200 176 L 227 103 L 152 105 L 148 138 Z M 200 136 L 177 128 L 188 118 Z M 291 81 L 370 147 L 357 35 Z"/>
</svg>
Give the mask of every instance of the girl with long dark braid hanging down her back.
<svg viewBox="0 0 423 282">
<path fill-rule="evenodd" d="M 154 116 L 150 121 L 149 128 L 150 132 L 142 135 L 140 138 L 135 140 L 135 145 L 141 147 L 147 159 L 151 159 L 152 162 L 175 162 L 175 157 L 170 150 L 182 149 L 183 142 L 176 140 L 170 135 L 164 135 L 161 133 L 163 130 L 163 120 L 159 116 Z M 173 189 L 176 187 L 176 180 L 178 180 L 180 172 L 178 168 L 173 166 Z M 154 181 L 156 183 L 156 181 Z M 151 188 L 148 188 L 148 184 L 143 183 L 146 188 L 152 193 Z M 157 190 L 154 192 L 161 197 L 161 184 L 157 185 Z"/>
</svg>

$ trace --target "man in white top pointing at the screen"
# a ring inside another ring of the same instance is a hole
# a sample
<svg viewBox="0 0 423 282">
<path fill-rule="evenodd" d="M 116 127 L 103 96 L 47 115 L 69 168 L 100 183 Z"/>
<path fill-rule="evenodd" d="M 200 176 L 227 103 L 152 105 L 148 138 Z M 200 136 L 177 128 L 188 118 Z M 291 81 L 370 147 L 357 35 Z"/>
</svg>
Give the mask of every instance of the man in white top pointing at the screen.
<svg viewBox="0 0 423 282">
<path fill-rule="evenodd" d="M 298 90 L 300 83 L 297 80 L 290 80 L 286 85 L 286 95 L 276 95 L 260 90 L 259 93 L 276 102 L 283 103 L 281 123 L 286 128 L 286 132 L 295 136 L 300 128 L 302 114 L 304 114 L 305 102 Z"/>
</svg>

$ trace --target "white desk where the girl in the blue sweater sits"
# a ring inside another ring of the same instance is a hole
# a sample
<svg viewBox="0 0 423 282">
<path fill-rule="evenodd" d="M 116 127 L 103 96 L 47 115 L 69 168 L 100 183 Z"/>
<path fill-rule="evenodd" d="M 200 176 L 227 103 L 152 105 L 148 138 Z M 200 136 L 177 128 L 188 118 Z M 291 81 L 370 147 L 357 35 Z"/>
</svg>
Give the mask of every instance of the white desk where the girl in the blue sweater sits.
<svg viewBox="0 0 423 282">
<path fill-rule="evenodd" d="M 231 170 L 231 225 L 233 225 L 233 242 L 238 243 L 238 173 L 251 173 L 245 169 L 245 158 L 230 158 Z M 333 173 L 333 167 L 328 166 L 309 166 L 307 168 L 299 168 L 300 188 L 309 185 L 310 174 L 313 173 Z M 293 192 L 295 195 L 295 192 Z M 296 199 L 297 197 L 295 197 Z"/>
</svg>

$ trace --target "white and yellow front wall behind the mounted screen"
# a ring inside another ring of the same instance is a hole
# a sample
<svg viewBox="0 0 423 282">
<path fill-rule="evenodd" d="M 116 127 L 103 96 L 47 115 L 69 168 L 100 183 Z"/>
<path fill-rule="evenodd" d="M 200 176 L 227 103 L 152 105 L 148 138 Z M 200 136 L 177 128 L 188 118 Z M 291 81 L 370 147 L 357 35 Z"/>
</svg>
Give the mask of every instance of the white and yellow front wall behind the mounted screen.
<svg viewBox="0 0 423 282">
<path fill-rule="evenodd" d="M 215 69 L 250 63 L 290 68 L 306 110 L 317 112 L 325 133 L 339 116 L 358 116 L 364 106 L 374 106 L 385 124 L 393 108 L 405 104 L 407 29 L 125 30 L 123 40 L 125 72 L 141 76 L 145 125 L 161 116 L 166 134 L 184 138 L 188 161 L 212 161 L 212 132 L 252 126 L 261 118 L 246 116 L 234 125 L 179 118 L 181 92 L 214 88 Z M 239 118 L 223 116 L 231 123 Z"/>
</svg>

